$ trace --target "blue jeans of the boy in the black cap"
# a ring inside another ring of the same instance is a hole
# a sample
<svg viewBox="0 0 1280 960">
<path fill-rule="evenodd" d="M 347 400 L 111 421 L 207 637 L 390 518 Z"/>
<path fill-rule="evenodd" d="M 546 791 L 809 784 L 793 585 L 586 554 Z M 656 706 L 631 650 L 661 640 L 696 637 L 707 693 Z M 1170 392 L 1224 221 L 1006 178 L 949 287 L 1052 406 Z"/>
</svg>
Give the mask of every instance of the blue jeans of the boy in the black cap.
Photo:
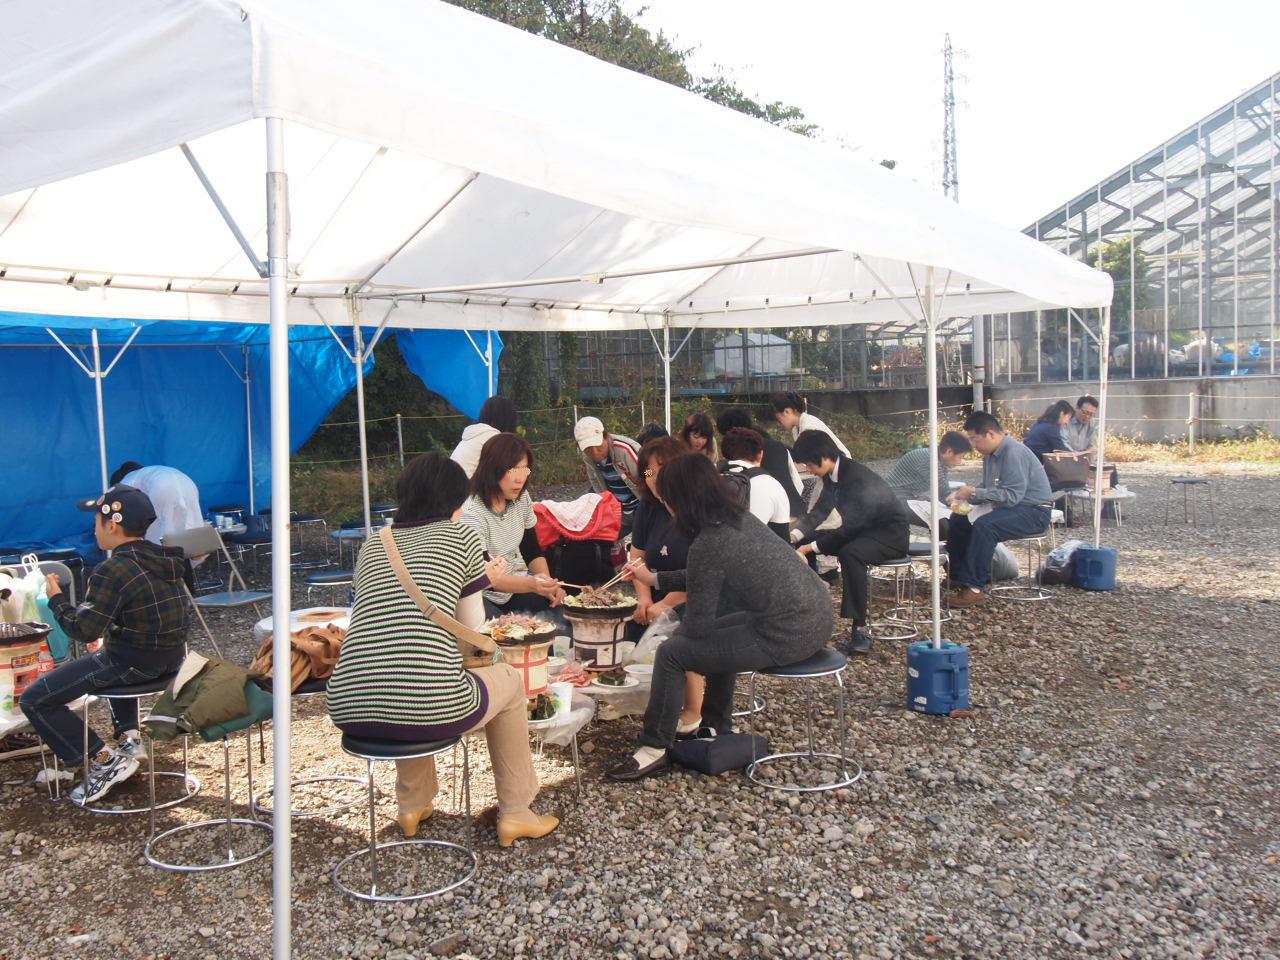
<svg viewBox="0 0 1280 960">
<path fill-rule="evenodd" d="M 46 673 L 22 694 L 22 712 L 27 714 L 31 726 L 58 759 L 68 767 L 76 767 L 84 760 L 84 722 L 67 704 L 86 694 L 129 684 L 141 684 L 165 673 L 173 667 L 163 667 L 154 672 L 131 667 L 110 657 L 106 650 L 77 657 L 64 663 L 51 673 Z M 111 718 L 115 736 L 127 730 L 138 728 L 138 701 L 111 700 Z M 102 750 L 102 740 L 92 730 L 88 732 L 90 756 Z"/>
</svg>

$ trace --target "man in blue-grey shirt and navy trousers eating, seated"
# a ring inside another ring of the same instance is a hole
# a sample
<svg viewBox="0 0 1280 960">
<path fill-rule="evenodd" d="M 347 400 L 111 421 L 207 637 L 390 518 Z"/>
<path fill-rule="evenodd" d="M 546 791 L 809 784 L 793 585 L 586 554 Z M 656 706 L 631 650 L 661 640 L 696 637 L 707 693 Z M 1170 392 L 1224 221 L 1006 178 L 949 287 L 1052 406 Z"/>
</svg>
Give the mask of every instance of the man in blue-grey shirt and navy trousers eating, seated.
<svg viewBox="0 0 1280 960">
<path fill-rule="evenodd" d="M 1050 490 L 1044 467 L 991 413 L 973 413 L 964 431 L 982 454 L 982 486 L 961 486 L 950 503 L 972 503 L 970 516 L 951 515 L 947 554 L 951 559 L 952 607 L 974 607 L 987 600 L 996 544 L 1048 530 Z"/>
</svg>

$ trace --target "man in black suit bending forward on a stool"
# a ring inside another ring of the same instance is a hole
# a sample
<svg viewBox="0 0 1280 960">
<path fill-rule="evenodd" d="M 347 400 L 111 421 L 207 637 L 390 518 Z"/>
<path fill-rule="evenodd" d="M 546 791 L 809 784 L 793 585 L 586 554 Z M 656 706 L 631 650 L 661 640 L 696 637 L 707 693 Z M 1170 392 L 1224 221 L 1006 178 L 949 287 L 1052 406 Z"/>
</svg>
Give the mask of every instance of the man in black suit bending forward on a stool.
<svg viewBox="0 0 1280 960">
<path fill-rule="evenodd" d="M 814 476 L 824 477 L 822 497 L 804 516 L 791 540 L 796 553 L 808 557 L 824 553 L 840 558 L 844 596 L 840 616 L 854 622 L 847 641 L 837 644 L 844 653 L 872 649 L 867 626 L 867 568 L 873 563 L 906 556 L 910 543 L 906 511 L 892 488 L 874 471 L 840 453 L 823 430 L 805 430 L 796 438 L 791 456 Z M 831 513 L 840 512 L 840 527 L 818 531 Z"/>
</svg>

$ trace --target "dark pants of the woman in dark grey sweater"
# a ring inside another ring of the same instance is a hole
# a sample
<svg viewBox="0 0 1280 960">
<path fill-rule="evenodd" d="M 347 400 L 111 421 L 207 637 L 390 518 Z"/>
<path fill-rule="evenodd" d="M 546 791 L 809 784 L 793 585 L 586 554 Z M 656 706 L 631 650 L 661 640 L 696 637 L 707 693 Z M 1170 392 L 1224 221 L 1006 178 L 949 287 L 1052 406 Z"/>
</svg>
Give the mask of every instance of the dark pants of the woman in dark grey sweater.
<svg viewBox="0 0 1280 960">
<path fill-rule="evenodd" d="M 682 630 L 684 627 L 681 627 Z M 710 636 L 689 636 L 677 630 L 653 663 L 653 691 L 644 712 L 644 746 L 668 748 L 676 739 L 680 710 L 685 705 L 685 673 L 707 677 L 703 695 L 703 726 L 717 732 L 733 728 L 733 685 L 744 671 L 780 666 L 751 630 L 745 613 L 730 613 L 716 621 Z"/>
</svg>

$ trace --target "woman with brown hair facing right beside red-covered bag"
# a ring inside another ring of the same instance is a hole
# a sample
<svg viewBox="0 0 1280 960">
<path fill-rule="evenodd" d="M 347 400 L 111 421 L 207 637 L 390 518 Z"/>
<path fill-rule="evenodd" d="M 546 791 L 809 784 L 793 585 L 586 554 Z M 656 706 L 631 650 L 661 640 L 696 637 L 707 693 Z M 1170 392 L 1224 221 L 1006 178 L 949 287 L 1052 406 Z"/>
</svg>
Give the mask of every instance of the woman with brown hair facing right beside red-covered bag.
<svg viewBox="0 0 1280 960">
<path fill-rule="evenodd" d="M 480 534 L 485 553 L 507 561 L 507 570 L 485 590 L 489 616 L 540 613 L 564 599 L 538 543 L 538 517 L 529 497 L 532 470 L 534 451 L 524 436 L 489 438 L 471 477 L 471 497 L 462 507 L 462 522 Z"/>
</svg>

